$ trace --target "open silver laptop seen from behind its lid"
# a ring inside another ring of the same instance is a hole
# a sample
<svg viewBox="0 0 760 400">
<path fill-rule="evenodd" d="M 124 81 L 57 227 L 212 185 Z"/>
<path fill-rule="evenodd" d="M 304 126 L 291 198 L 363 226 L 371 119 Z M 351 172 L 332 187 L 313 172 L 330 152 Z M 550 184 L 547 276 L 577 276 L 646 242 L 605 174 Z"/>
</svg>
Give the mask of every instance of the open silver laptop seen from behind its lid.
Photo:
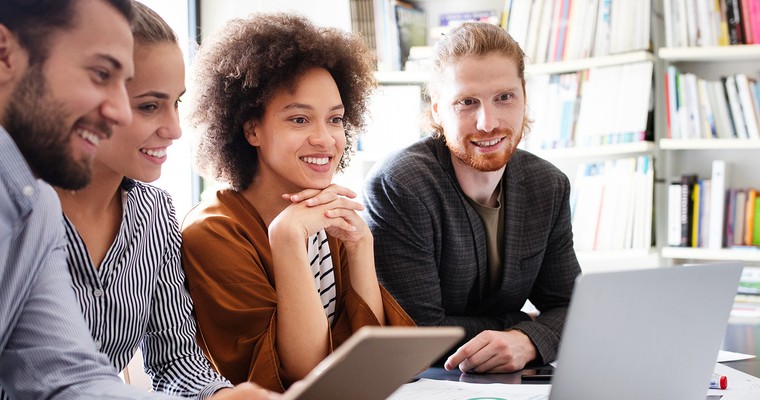
<svg viewBox="0 0 760 400">
<path fill-rule="evenodd" d="M 704 399 L 741 272 L 726 262 L 579 277 L 549 399 Z"/>
</svg>

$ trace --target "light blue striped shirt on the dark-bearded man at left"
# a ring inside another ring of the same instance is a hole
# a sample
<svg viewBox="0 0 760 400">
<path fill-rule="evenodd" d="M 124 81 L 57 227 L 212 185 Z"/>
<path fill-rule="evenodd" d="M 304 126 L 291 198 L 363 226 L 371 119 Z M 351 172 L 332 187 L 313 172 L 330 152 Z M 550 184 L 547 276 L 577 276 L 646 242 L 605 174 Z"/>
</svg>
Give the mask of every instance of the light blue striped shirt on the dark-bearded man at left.
<svg viewBox="0 0 760 400">
<path fill-rule="evenodd" d="M 0 127 L 0 386 L 11 398 L 164 398 L 121 383 L 71 289 L 58 196 Z"/>
</svg>

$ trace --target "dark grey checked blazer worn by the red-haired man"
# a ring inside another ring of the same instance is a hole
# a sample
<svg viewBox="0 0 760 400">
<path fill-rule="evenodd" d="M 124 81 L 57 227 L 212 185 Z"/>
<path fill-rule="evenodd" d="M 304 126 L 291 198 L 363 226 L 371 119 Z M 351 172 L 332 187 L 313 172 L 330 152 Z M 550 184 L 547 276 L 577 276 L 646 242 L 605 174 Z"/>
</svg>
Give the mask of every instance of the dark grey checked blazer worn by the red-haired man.
<svg viewBox="0 0 760 400">
<path fill-rule="evenodd" d="M 443 140 L 426 138 L 388 157 L 365 189 L 378 278 L 419 325 L 462 326 L 464 341 L 519 329 L 536 345 L 536 363 L 551 362 L 580 273 L 570 183 L 551 163 L 517 150 L 502 187 L 506 262 L 500 286 L 489 291 L 485 228 Z M 520 311 L 526 299 L 541 312 L 536 321 Z"/>
</svg>

